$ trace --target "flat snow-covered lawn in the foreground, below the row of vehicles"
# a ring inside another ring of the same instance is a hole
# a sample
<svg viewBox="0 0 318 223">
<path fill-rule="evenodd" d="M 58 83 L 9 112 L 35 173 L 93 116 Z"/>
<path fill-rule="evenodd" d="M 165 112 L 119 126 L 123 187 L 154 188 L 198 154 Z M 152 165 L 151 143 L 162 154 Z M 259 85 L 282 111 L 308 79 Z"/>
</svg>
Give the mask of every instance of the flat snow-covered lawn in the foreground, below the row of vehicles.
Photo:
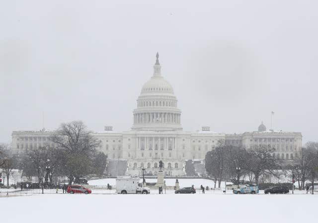
<svg viewBox="0 0 318 223">
<path fill-rule="evenodd" d="M 317 219 L 318 195 L 38 194 L 1 198 L 3 223 L 300 223 Z"/>
</svg>

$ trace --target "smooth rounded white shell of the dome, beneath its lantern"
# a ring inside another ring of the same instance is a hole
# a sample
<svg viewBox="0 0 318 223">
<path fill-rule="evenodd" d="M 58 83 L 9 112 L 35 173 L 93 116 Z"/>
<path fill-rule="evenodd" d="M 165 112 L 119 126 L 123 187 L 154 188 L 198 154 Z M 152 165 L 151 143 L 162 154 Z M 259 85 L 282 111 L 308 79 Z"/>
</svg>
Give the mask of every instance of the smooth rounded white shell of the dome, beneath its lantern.
<svg viewBox="0 0 318 223">
<path fill-rule="evenodd" d="M 173 88 L 162 76 L 153 76 L 144 84 L 141 94 L 153 92 L 173 94 Z"/>
</svg>

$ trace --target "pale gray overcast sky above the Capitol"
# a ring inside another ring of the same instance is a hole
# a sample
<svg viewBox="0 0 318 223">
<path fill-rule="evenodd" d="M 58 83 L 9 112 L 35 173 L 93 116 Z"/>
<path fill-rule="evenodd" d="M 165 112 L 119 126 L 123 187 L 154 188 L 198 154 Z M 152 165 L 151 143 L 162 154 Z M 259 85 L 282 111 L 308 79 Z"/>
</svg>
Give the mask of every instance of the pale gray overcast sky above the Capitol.
<svg viewBox="0 0 318 223">
<path fill-rule="evenodd" d="M 133 3 L 134 2 L 134 3 Z M 318 1 L 0 0 L 0 142 L 11 132 L 132 126 L 156 52 L 185 131 L 318 141 Z"/>
</svg>

